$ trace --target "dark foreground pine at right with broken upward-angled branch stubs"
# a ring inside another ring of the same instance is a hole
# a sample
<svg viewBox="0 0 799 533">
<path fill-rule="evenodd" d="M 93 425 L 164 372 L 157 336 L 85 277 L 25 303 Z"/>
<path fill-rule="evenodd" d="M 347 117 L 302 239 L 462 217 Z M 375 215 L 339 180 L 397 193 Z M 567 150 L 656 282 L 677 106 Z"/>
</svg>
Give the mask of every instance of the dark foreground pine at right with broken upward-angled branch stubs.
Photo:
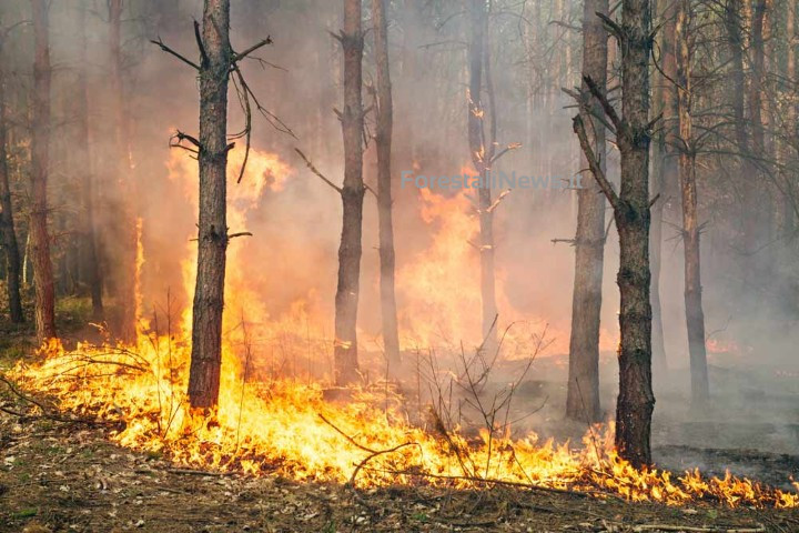
<svg viewBox="0 0 799 533">
<path fill-rule="evenodd" d="M 619 234 L 621 295 L 619 310 L 619 395 L 616 402 L 616 447 L 635 466 L 651 463 L 651 303 L 649 286 L 649 0 L 623 0 L 621 21 L 603 17 L 621 49 L 621 115 L 594 80 L 586 83 L 616 131 L 621 160 L 621 188 L 614 191 L 588 141 L 580 115 L 574 128 L 599 187 L 614 210 Z"/>
</svg>

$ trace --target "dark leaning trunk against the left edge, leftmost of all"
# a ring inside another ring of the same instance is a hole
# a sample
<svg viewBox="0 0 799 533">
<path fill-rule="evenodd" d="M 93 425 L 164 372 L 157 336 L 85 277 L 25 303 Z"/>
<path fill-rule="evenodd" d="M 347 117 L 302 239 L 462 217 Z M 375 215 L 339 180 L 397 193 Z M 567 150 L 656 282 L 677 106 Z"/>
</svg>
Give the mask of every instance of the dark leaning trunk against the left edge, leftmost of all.
<svg viewBox="0 0 799 533">
<path fill-rule="evenodd" d="M 2 36 L 0 36 L 0 52 L 2 52 Z M 6 250 L 6 273 L 8 276 L 9 316 L 11 322 L 24 322 L 22 313 L 22 299 L 20 298 L 20 253 L 14 230 L 13 204 L 11 203 L 11 185 L 9 183 L 8 160 L 6 159 L 6 144 L 8 142 L 8 128 L 6 117 L 6 76 L 0 70 L 0 232 L 2 247 Z"/>
</svg>

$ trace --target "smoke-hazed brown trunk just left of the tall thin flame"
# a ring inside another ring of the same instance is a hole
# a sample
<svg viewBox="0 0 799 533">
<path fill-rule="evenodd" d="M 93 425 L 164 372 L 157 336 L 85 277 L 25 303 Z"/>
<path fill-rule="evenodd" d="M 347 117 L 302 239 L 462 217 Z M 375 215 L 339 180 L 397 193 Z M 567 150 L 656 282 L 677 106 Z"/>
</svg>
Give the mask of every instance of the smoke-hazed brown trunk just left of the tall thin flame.
<svg viewBox="0 0 799 533">
<path fill-rule="evenodd" d="M 113 98 L 113 180 L 111 184 L 109 225 L 113 229 L 108 239 L 112 255 L 112 270 L 119 323 L 117 334 L 127 342 L 135 340 L 135 250 L 136 230 L 131 208 L 133 195 L 130 168 L 128 117 L 122 83 L 122 8 L 123 0 L 109 0 L 109 44 L 111 92 Z"/>
</svg>

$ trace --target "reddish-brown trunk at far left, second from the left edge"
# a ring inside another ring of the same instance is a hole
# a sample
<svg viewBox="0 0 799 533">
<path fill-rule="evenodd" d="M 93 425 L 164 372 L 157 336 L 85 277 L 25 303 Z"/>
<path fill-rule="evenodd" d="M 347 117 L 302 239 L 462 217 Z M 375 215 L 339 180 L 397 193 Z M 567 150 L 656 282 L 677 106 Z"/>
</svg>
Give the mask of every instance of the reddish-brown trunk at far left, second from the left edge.
<svg viewBox="0 0 799 533">
<path fill-rule="evenodd" d="M 31 213 L 30 237 L 36 284 L 36 324 L 39 342 L 57 336 L 55 289 L 48 233 L 48 172 L 50 164 L 50 39 L 45 0 L 31 0 L 33 7 L 33 98 L 31 123 Z"/>
</svg>

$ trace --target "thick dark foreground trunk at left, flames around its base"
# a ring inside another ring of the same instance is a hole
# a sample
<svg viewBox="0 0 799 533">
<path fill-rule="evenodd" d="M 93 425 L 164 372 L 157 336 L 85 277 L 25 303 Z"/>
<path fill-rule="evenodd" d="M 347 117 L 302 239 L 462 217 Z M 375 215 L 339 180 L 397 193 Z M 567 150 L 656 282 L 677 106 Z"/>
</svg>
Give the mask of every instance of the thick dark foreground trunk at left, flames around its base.
<svg viewBox="0 0 799 533">
<path fill-rule="evenodd" d="M 200 63 L 200 223 L 192 308 L 189 401 L 209 409 L 219 399 L 222 310 L 227 250 L 227 80 L 231 70 L 229 0 L 205 0 Z"/>
</svg>

